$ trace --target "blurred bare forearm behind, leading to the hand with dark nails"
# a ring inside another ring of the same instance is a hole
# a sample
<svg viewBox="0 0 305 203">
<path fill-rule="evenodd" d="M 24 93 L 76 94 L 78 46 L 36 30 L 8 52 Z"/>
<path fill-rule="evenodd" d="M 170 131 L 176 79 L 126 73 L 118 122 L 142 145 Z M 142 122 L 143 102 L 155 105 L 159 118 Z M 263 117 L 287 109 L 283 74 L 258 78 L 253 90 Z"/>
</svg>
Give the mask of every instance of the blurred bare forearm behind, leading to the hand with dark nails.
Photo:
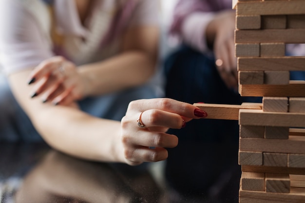
<svg viewBox="0 0 305 203">
<path fill-rule="evenodd" d="M 142 85 L 152 77 L 155 66 L 155 57 L 135 50 L 79 67 L 79 73 L 88 84 L 84 96 L 105 94 Z"/>
</svg>

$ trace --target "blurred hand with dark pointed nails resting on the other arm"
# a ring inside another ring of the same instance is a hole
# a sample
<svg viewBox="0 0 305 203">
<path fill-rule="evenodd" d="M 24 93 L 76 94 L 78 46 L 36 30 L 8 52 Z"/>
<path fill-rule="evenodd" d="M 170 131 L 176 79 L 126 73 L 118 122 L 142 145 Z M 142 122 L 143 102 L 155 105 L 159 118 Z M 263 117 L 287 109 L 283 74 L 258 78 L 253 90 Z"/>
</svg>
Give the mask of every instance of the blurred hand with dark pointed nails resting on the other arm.
<svg viewBox="0 0 305 203">
<path fill-rule="evenodd" d="M 32 97 L 40 96 L 43 102 L 68 105 L 83 98 L 86 80 L 76 66 L 62 56 L 41 62 L 30 74 L 29 84 L 34 84 Z"/>
</svg>

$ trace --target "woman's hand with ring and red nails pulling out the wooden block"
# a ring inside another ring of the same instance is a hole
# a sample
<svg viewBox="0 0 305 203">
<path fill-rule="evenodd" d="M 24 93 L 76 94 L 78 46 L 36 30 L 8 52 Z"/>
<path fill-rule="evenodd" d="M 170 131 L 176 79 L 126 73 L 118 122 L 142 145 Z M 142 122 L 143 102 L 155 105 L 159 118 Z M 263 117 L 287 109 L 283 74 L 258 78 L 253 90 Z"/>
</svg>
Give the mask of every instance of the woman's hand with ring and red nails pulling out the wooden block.
<svg viewBox="0 0 305 203">
<path fill-rule="evenodd" d="M 126 162 L 138 165 L 167 159 L 168 151 L 165 148 L 176 147 L 178 138 L 166 131 L 169 128 L 183 128 L 191 119 L 206 116 L 205 111 L 191 104 L 168 98 L 131 102 L 121 120 L 121 139 Z M 144 128 L 138 126 L 141 124 Z"/>
</svg>

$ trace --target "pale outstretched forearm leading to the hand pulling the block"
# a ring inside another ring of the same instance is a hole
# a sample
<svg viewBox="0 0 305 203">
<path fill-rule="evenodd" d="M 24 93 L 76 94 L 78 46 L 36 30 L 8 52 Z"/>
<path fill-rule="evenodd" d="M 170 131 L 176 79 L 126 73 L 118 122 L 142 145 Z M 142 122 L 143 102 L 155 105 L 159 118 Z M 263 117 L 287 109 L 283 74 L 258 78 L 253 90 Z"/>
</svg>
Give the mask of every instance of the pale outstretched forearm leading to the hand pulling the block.
<svg viewBox="0 0 305 203">
<path fill-rule="evenodd" d="M 92 117 L 74 106 L 54 106 L 30 98 L 27 77 L 31 70 L 9 77 L 12 91 L 43 139 L 67 154 L 96 161 L 123 162 L 120 123 Z"/>
</svg>

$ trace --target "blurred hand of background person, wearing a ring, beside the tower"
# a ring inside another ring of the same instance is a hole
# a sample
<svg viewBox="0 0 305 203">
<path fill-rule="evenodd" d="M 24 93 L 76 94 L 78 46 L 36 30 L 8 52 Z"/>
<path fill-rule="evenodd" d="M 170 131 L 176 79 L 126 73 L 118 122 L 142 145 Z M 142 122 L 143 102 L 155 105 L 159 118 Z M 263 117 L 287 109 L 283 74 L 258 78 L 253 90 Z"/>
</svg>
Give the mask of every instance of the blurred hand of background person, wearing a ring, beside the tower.
<svg viewBox="0 0 305 203">
<path fill-rule="evenodd" d="M 235 12 L 218 13 L 210 22 L 213 29 L 215 64 L 229 89 L 238 88 L 237 61 L 234 48 Z"/>
</svg>

